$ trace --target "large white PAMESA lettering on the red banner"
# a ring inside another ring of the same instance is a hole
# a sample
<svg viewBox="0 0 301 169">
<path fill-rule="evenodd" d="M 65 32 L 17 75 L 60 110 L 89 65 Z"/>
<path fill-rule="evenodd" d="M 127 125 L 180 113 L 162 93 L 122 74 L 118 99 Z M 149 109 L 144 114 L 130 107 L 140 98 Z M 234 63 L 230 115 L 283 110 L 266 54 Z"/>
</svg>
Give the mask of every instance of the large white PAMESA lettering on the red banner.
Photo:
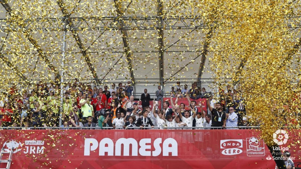
<svg viewBox="0 0 301 169">
<path fill-rule="evenodd" d="M 154 151 L 150 150 L 150 144 L 154 145 Z M 162 147 L 160 144 L 162 144 L 162 138 L 143 138 L 139 140 L 139 143 L 134 138 L 119 138 L 115 143 L 110 138 L 103 138 L 99 142 L 95 138 L 86 138 L 84 155 L 89 156 L 91 151 L 93 152 L 98 148 L 99 156 L 138 156 L 138 154 L 141 156 L 158 156 L 161 153 L 163 156 L 178 156 L 178 143 L 175 139 L 167 138 L 163 141 Z M 130 147 L 132 148 L 131 154 Z"/>
</svg>

